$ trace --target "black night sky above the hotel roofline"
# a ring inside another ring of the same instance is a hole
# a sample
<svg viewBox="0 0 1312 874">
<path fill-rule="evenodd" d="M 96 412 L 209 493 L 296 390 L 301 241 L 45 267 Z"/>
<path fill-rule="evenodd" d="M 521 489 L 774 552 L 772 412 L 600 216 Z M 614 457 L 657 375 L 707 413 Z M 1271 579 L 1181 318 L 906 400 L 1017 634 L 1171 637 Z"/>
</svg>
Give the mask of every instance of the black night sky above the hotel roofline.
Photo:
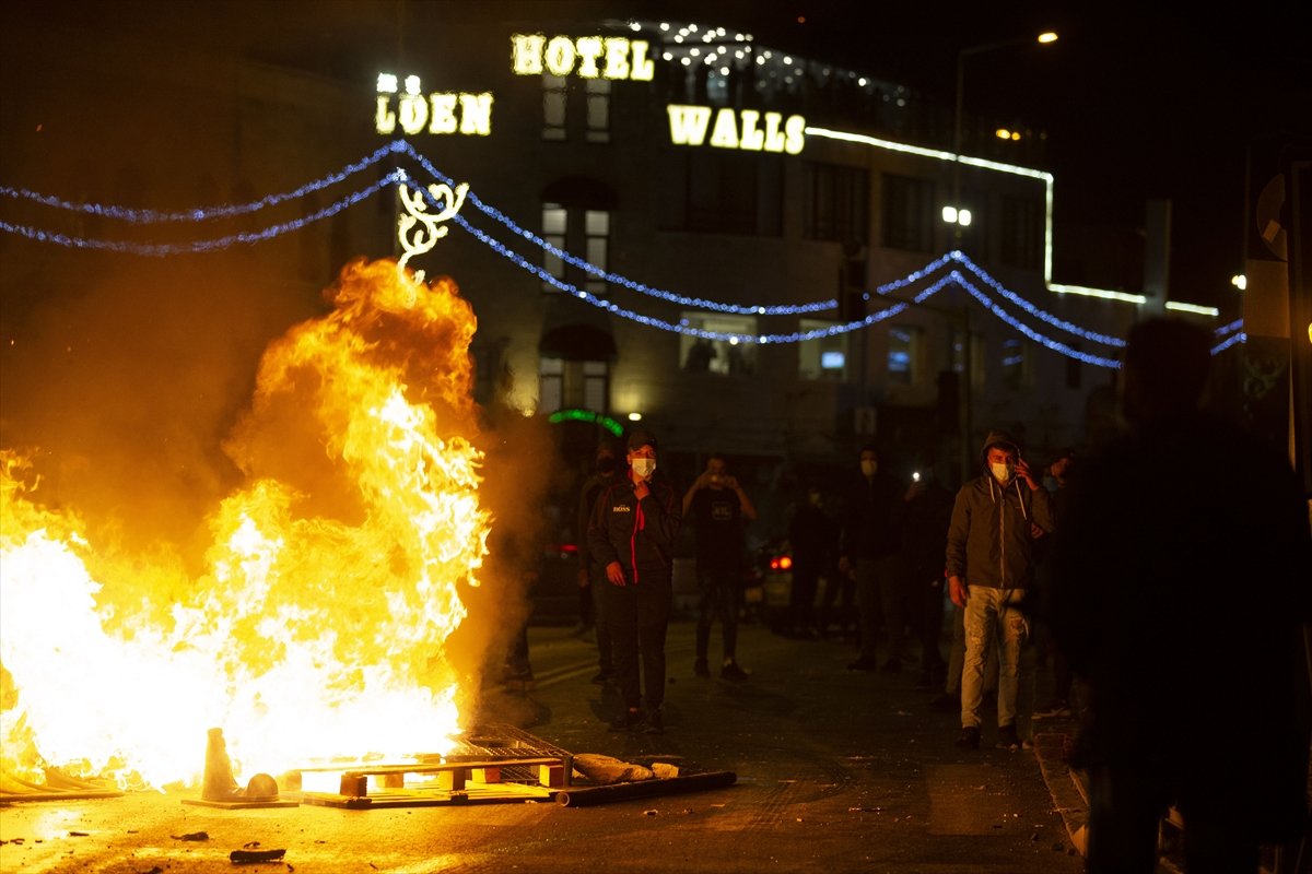
<svg viewBox="0 0 1312 874">
<path fill-rule="evenodd" d="M 1063 253 L 1071 248 L 1064 240 L 1138 235 L 1148 200 L 1166 199 L 1170 296 L 1237 313 L 1229 278 L 1244 269 L 1249 149 L 1261 152 L 1279 136 L 1312 140 L 1312 13 L 1307 3 L 1290 1 L 1232 4 L 1220 12 L 1195 5 L 1177 14 L 1148 7 L 1153 4 L 62 0 L 9 5 L 0 18 L 72 13 L 92 26 L 96 17 L 106 25 L 150 21 L 181 41 L 227 33 L 255 46 L 257 56 L 321 66 L 333 51 L 356 62 L 373 59 L 367 45 L 417 51 L 421 46 L 405 43 L 401 22 L 434 14 L 508 24 L 551 17 L 580 25 L 668 17 L 744 29 L 764 45 L 907 84 L 946 107 L 954 102 L 962 48 L 1051 29 L 1060 34 L 1056 45 L 970 56 L 966 111 L 1019 117 L 1047 131 L 1042 169 L 1056 178 L 1054 279 L 1090 284 L 1085 276 L 1063 275 Z M 168 14 L 160 14 L 164 9 Z M 234 29 L 234 21 L 240 26 Z M 328 22 L 340 21 L 349 22 L 345 45 L 341 33 L 329 33 Z M 354 52 L 340 54 L 350 45 Z M 373 66 L 333 72 L 367 77 Z"/>
</svg>

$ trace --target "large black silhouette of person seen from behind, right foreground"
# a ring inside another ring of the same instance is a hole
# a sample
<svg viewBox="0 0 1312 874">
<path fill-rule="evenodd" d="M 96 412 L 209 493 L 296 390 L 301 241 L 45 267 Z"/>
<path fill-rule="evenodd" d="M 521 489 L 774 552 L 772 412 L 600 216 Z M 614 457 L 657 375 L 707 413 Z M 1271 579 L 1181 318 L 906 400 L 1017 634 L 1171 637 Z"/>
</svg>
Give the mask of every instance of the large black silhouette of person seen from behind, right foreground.
<svg viewBox="0 0 1312 874">
<path fill-rule="evenodd" d="M 1307 835 L 1307 497 L 1284 452 L 1202 409 L 1207 332 L 1134 326 L 1128 434 L 1081 460 L 1048 617 L 1089 689 L 1086 870 L 1148 874 L 1162 815 L 1185 866 L 1256 871 Z"/>
</svg>

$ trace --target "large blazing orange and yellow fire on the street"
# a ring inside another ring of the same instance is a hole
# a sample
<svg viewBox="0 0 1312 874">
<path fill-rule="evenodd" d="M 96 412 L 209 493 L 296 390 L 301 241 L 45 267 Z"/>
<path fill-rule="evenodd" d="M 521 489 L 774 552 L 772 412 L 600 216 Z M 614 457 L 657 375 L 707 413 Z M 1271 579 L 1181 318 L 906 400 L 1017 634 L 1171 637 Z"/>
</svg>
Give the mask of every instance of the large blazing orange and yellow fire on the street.
<svg viewBox="0 0 1312 874">
<path fill-rule="evenodd" d="M 449 279 L 348 266 L 333 311 L 260 366 L 199 573 L 119 556 L 0 455 L 0 786 L 56 767 L 195 785 L 222 727 L 248 774 L 445 752 L 447 638 L 491 512 L 470 400 L 472 311 Z M 311 473 L 307 473 L 310 470 Z"/>
</svg>

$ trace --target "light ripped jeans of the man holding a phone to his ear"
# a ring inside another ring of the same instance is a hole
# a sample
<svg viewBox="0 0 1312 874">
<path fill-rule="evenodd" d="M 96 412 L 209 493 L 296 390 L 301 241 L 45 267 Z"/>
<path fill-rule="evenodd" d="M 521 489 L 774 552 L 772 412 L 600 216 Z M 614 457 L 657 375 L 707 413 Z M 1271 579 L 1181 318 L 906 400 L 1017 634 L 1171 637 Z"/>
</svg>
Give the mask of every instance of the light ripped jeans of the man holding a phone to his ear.
<svg viewBox="0 0 1312 874">
<path fill-rule="evenodd" d="M 1023 588 L 971 586 L 966 599 L 966 663 L 962 666 L 962 727 L 980 726 L 985 654 L 997 653 L 997 725 L 1015 725 L 1021 645 L 1029 636 Z"/>
</svg>

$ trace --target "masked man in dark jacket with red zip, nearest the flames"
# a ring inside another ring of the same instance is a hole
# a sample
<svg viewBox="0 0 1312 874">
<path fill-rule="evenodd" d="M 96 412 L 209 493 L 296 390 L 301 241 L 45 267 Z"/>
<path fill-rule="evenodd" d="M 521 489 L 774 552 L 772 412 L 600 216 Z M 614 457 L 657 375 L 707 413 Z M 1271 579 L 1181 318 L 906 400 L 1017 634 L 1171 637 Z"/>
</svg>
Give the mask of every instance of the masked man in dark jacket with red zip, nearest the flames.
<svg viewBox="0 0 1312 874">
<path fill-rule="evenodd" d="M 602 615 L 625 712 L 613 731 L 665 730 L 665 632 L 673 607 L 678 495 L 656 473 L 656 438 L 628 436 L 628 472 L 597 498 L 588 523 L 592 561 L 606 569 Z M 646 689 L 646 714 L 643 691 Z"/>
</svg>

